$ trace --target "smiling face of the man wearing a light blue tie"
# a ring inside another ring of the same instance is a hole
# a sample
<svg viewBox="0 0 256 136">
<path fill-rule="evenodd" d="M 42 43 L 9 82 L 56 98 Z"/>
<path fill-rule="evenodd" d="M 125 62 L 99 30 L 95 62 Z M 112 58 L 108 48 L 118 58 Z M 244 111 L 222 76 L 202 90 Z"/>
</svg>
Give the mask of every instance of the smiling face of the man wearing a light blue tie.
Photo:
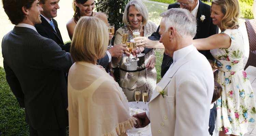
<svg viewBox="0 0 256 136">
<path fill-rule="evenodd" d="M 51 20 L 52 18 L 57 16 L 57 10 L 59 9 L 59 0 L 45 0 L 44 4 L 40 2 L 40 6 L 44 10 L 43 12 L 41 12 L 41 14 L 47 19 Z"/>
</svg>

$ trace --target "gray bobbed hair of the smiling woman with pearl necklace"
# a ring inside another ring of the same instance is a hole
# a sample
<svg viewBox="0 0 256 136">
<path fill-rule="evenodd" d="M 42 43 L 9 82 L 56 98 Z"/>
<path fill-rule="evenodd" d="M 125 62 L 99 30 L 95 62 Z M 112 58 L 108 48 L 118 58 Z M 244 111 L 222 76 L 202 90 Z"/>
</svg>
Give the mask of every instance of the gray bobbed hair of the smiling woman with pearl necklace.
<svg viewBox="0 0 256 136">
<path fill-rule="evenodd" d="M 135 9 L 142 15 L 142 26 L 145 26 L 148 20 L 148 12 L 147 12 L 147 8 L 144 5 L 144 3 L 140 0 L 131 0 L 129 1 L 126 6 L 125 6 L 125 11 L 124 11 L 124 15 L 123 15 L 123 22 L 130 26 L 131 24 L 129 23 L 129 19 L 128 19 L 128 14 L 129 14 L 129 7 L 130 6 L 134 6 Z"/>
</svg>

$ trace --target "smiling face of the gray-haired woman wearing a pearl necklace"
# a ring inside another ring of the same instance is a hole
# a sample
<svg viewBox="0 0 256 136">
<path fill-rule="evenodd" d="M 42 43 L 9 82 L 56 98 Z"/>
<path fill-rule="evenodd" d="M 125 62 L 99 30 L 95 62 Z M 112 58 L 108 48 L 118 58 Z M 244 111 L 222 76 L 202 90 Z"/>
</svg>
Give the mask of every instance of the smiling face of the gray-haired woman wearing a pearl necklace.
<svg viewBox="0 0 256 136">
<path fill-rule="evenodd" d="M 139 28 L 142 22 L 142 15 L 132 5 L 128 9 L 128 20 L 133 28 Z"/>
</svg>

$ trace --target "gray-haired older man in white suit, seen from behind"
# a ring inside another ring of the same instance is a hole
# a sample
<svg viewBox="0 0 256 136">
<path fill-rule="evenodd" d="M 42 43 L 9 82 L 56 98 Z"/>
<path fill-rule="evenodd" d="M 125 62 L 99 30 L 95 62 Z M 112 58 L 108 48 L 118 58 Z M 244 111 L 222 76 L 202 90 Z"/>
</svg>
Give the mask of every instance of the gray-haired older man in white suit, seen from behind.
<svg viewBox="0 0 256 136">
<path fill-rule="evenodd" d="M 196 18 L 182 8 L 161 16 L 160 42 L 174 63 L 158 83 L 149 112 L 134 115 L 138 127 L 151 122 L 153 136 L 207 136 L 214 80 L 207 58 L 192 44 Z"/>
</svg>

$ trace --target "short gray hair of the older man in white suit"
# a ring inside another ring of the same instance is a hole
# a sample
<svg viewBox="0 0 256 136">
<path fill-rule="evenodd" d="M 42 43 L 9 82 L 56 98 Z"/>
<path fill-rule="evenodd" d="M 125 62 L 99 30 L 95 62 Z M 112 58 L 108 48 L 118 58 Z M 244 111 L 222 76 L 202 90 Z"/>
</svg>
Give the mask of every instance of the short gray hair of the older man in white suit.
<svg viewBox="0 0 256 136">
<path fill-rule="evenodd" d="M 183 8 L 171 8 L 160 16 L 165 18 L 166 31 L 170 27 L 173 27 L 181 36 L 190 35 L 195 37 L 197 30 L 196 18 L 188 10 Z"/>
</svg>

